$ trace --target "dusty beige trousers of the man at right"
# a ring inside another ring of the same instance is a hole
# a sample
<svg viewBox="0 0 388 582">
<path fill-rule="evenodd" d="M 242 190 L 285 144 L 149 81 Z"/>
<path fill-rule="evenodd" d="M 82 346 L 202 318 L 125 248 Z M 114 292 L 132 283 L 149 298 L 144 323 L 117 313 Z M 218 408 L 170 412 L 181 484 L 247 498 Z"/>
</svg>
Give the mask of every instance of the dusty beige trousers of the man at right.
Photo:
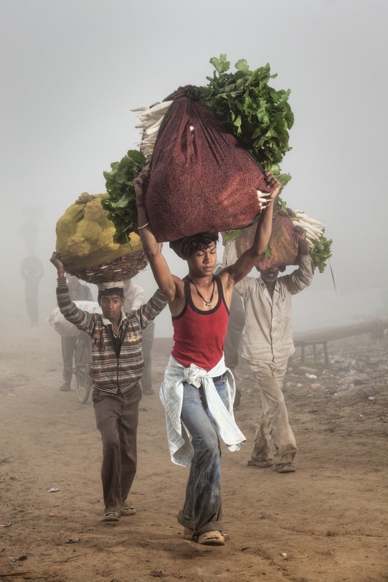
<svg viewBox="0 0 388 582">
<path fill-rule="evenodd" d="M 254 437 L 252 458 L 264 461 L 269 457 L 270 438 L 274 443 L 276 464 L 292 463 L 297 443 L 288 421 L 282 392 L 288 358 L 276 362 L 249 362 L 261 396 L 261 416 Z"/>
</svg>

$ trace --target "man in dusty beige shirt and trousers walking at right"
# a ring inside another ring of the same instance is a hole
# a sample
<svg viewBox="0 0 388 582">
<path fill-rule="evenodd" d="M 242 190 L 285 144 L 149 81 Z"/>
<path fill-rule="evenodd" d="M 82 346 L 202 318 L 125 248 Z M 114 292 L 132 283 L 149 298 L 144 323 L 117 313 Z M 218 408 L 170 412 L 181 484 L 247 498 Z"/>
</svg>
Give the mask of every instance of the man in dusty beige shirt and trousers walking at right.
<svg viewBox="0 0 388 582">
<path fill-rule="evenodd" d="M 248 360 L 261 396 L 261 415 L 248 465 L 265 468 L 272 466 L 275 461 L 278 473 L 294 472 L 293 461 L 297 452 L 283 396 L 288 358 L 295 351 L 291 300 L 292 295 L 310 285 L 314 274 L 306 231 L 301 227 L 294 227 L 294 230 L 299 234 L 297 270 L 278 278 L 279 272 L 285 270 L 284 265 L 258 269 L 260 276 L 257 279 L 246 276 L 235 287 L 245 305 L 242 355 Z M 236 258 L 236 245 L 229 241 L 225 246 L 224 262 L 230 265 Z M 271 441 L 274 445 L 274 459 L 270 458 Z"/>
</svg>

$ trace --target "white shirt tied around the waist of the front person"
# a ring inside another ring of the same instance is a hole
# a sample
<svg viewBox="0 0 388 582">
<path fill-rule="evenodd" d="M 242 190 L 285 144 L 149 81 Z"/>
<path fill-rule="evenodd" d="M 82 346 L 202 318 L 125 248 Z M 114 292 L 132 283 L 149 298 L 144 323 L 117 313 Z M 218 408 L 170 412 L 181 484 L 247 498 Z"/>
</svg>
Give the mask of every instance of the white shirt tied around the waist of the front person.
<svg viewBox="0 0 388 582">
<path fill-rule="evenodd" d="M 224 373 L 227 373 L 227 406 L 222 402 L 213 382 L 213 378 L 222 376 Z M 183 382 L 187 382 L 197 388 L 201 384 L 203 385 L 206 403 L 218 436 L 224 441 L 229 450 L 239 450 L 246 439 L 234 420 L 233 401 L 236 394 L 236 386 L 233 374 L 225 366 L 224 356 L 209 372 L 195 366 L 195 364 L 185 368 L 173 356 L 170 356 L 159 396 L 166 409 L 168 448 L 170 449 L 171 461 L 177 465 L 187 466 L 193 458 L 194 452 L 190 435 L 181 418 Z"/>
</svg>

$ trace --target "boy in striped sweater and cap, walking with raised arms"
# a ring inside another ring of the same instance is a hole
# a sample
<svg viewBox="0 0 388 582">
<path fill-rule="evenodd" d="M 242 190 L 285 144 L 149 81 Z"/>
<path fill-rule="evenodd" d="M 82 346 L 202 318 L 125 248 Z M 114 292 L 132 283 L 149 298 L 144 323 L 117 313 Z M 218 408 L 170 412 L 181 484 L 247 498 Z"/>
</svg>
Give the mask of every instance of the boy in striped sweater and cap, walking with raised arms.
<svg viewBox="0 0 388 582">
<path fill-rule="evenodd" d="M 121 515 L 136 513 L 127 501 L 127 495 L 137 464 L 139 382 L 144 369 L 141 334 L 167 302 L 157 290 L 145 305 L 136 311 L 125 312 L 124 283 L 114 281 L 98 285 L 102 315 L 82 311 L 70 299 L 64 265 L 58 253 L 53 253 L 51 263 L 58 270 L 57 299 L 61 313 L 91 336 L 89 373 L 94 382 L 92 400 L 96 425 L 103 441 L 103 521 L 118 522 Z"/>
</svg>

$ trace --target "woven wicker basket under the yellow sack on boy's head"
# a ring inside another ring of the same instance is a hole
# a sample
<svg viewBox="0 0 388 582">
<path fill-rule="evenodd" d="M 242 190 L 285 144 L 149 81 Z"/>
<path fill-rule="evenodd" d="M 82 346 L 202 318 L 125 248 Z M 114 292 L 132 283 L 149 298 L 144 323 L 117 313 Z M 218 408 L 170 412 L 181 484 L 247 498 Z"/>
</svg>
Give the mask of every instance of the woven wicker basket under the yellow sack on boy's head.
<svg viewBox="0 0 388 582">
<path fill-rule="evenodd" d="M 107 283 L 107 281 L 125 281 L 132 279 L 148 265 L 148 259 L 143 249 L 135 251 L 125 256 L 119 256 L 107 263 L 101 263 L 96 267 L 88 267 L 80 271 L 68 271 L 71 275 L 76 275 L 78 279 L 87 283 Z"/>
</svg>

